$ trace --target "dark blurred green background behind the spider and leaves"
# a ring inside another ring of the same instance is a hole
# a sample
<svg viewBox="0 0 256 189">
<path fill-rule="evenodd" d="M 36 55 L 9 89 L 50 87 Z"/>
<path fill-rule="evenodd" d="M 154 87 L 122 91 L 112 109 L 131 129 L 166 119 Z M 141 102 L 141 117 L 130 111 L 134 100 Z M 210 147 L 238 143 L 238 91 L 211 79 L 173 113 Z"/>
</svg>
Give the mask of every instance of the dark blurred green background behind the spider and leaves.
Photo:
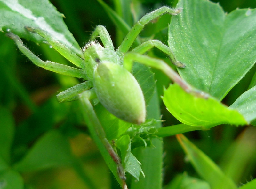
<svg viewBox="0 0 256 189">
<path fill-rule="evenodd" d="M 174 6 L 177 2 L 172 0 L 141 0 L 132 1 L 140 5 L 140 17 L 144 13 L 154 10 L 163 5 Z M 108 17 L 107 13 L 96 0 L 52 0 L 52 4 L 58 11 L 65 15 L 65 23 L 71 33 L 80 44 L 85 45 L 93 29 L 101 24 L 105 25 L 111 35 L 116 47 L 120 44 L 120 32 Z M 105 1 L 114 7 L 114 3 Z M 236 7 L 255 8 L 255 0 L 220 0 L 220 5 L 226 12 L 230 12 Z M 169 15 L 159 19 L 163 23 L 155 35 L 155 39 L 167 41 L 167 24 Z M 133 20 L 127 19 L 129 25 Z M 158 23 L 159 24 L 159 23 Z M 155 33 L 156 23 L 149 24 L 142 32 L 143 37 L 151 36 Z M 152 29 L 153 28 L 153 29 Z M 79 81 L 67 76 L 59 76 L 33 65 L 28 59 L 17 51 L 16 45 L 7 38 L 4 33 L 0 33 L 0 106 L 9 110 L 15 122 L 15 136 L 12 144 L 12 162 L 18 161 L 27 150 L 33 146 L 39 137 L 52 128 L 59 129 L 69 139 L 73 154 L 81 160 L 84 170 L 88 174 L 89 181 L 97 188 L 114 188 L 115 179 L 109 173 L 97 147 L 88 135 L 88 131 L 83 127 L 83 120 L 77 113 L 77 103 L 59 104 L 56 101 L 58 91 L 63 91 Z M 36 55 L 40 55 L 43 60 L 55 62 L 66 62 L 58 53 L 49 46 L 24 41 Z M 153 55 L 164 57 L 160 52 L 153 50 Z M 167 60 L 168 61 L 168 60 Z M 232 89 L 224 103 L 232 102 L 244 91 L 247 90 L 250 80 L 255 73 L 255 68 L 244 77 L 244 79 Z M 157 80 L 160 81 L 161 73 L 156 73 Z M 158 92 L 161 94 L 163 84 L 158 82 Z M 177 124 L 165 108 L 162 108 L 163 125 Z M 214 127 L 209 131 L 194 131 L 185 134 L 198 148 L 211 157 L 215 162 L 225 167 L 230 157 L 246 159 L 244 165 L 239 167 L 239 182 L 245 183 L 256 177 L 256 129 L 254 127 L 231 127 L 222 125 Z M 1 147 L 1 144 L 0 144 Z M 247 149 L 247 150 L 246 150 Z M 244 150 L 244 151 L 242 151 Z M 187 171 L 190 176 L 197 176 L 192 166 L 186 163 L 184 152 L 180 148 L 175 137 L 164 139 L 164 185 L 166 185 L 177 174 Z M 240 159 L 237 159 L 239 161 Z M 247 160 L 248 159 L 248 160 Z M 233 159 L 234 160 L 234 159 Z M 234 174 L 234 173 L 229 173 Z M 82 189 L 91 188 L 88 183 L 83 182 L 69 167 L 47 169 L 39 172 L 26 173 L 23 175 L 27 188 L 38 189 Z"/>
</svg>

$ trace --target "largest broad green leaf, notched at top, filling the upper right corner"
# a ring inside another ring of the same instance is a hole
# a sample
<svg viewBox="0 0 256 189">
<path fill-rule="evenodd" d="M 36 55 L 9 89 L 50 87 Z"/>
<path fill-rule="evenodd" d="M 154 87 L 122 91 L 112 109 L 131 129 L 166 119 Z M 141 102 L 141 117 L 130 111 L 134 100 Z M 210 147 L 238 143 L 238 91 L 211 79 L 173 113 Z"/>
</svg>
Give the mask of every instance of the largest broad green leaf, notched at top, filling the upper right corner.
<svg viewBox="0 0 256 189">
<path fill-rule="evenodd" d="M 180 75 L 221 100 L 256 61 L 256 9 L 226 14 L 207 0 L 180 0 L 172 17 L 168 44 L 186 65 Z"/>
</svg>

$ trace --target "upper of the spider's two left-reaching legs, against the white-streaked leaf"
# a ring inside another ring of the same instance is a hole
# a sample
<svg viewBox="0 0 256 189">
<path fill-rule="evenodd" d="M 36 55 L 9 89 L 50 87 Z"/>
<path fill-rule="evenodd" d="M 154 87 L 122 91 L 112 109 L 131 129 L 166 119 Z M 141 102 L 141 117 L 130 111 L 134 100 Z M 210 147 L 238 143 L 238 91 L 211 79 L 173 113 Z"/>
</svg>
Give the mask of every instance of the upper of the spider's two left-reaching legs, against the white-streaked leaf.
<svg viewBox="0 0 256 189">
<path fill-rule="evenodd" d="M 46 41 L 50 43 L 50 45 L 56 51 L 58 51 L 62 56 L 64 56 L 68 61 L 70 61 L 74 65 L 81 68 L 82 65 L 84 64 L 84 60 L 83 60 L 84 55 L 82 51 L 77 52 L 77 54 L 74 53 L 70 48 L 66 47 L 65 45 L 60 43 L 58 40 L 55 40 L 52 37 L 52 35 L 50 35 L 49 33 L 47 33 L 46 31 L 40 28 L 32 28 L 32 27 L 25 27 L 25 28 L 30 32 L 38 33 L 39 35 L 41 35 Z"/>
</svg>

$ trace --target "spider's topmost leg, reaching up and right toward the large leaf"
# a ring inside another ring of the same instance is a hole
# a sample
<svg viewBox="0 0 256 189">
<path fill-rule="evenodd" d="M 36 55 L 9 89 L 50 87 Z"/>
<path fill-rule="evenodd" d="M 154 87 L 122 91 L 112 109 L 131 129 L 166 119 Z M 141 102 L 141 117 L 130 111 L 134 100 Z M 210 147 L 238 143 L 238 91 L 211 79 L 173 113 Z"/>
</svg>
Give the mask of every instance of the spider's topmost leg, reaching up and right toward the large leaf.
<svg viewBox="0 0 256 189">
<path fill-rule="evenodd" d="M 143 27 L 146 24 L 148 24 L 148 22 L 152 21 L 153 19 L 159 17 L 162 14 L 169 13 L 172 15 L 178 15 L 181 11 L 182 9 L 171 9 L 169 7 L 164 6 L 144 15 L 138 22 L 136 22 L 132 26 L 132 29 L 127 33 L 123 42 L 117 49 L 118 54 L 124 54 L 130 49 L 132 43 L 137 38 Z"/>
</svg>

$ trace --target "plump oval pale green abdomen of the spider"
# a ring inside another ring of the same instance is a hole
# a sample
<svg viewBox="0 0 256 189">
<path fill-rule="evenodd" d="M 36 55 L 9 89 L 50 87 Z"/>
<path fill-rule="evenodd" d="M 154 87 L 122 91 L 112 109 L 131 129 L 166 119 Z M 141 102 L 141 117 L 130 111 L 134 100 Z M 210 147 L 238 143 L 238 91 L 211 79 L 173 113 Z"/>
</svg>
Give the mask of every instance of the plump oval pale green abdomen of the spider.
<svg viewBox="0 0 256 189">
<path fill-rule="evenodd" d="M 134 76 L 122 66 L 107 62 L 94 72 L 94 89 L 101 104 L 116 117 L 131 123 L 145 121 L 145 100 Z"/>
</svg>

